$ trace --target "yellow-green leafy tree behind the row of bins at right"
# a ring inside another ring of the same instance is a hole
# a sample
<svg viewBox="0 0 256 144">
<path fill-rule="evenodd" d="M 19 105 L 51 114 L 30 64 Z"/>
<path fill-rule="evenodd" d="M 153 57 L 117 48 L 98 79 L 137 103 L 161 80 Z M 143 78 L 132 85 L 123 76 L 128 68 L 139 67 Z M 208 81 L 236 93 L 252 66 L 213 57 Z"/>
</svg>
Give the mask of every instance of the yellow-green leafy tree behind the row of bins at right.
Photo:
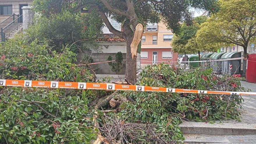
<svg viewBox="0 0 256 144">
<path fill-rule="evenodd" d="M 247 55 L 249 43 L 256 37 L 256 7 L 254 0 L 221 0 L 220 10 L 202 24 L 197 32 L 201 47 L 220 48 L 229 45 L 243 47 Z"/>
</svg>

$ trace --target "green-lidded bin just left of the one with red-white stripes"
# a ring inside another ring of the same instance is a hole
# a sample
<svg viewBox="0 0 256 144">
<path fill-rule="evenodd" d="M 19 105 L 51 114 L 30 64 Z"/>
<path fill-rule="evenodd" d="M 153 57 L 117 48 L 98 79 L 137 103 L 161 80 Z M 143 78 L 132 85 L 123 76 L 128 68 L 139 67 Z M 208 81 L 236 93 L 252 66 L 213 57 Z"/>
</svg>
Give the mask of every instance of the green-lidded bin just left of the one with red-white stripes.
<svg viewBox="0 0 256 144">
<path fill-rule="evenodd" d="M 222 71 L 222 61 L 216 61 L 219 60 L 221 58 L 221 56 L 225 54 L 225 52 L 220 52 L 220 53 L 216 53 L 211 55 L 211 67 L 213 69 L 212 73 L 214 74 L 220 74 Z"/>
</svg>

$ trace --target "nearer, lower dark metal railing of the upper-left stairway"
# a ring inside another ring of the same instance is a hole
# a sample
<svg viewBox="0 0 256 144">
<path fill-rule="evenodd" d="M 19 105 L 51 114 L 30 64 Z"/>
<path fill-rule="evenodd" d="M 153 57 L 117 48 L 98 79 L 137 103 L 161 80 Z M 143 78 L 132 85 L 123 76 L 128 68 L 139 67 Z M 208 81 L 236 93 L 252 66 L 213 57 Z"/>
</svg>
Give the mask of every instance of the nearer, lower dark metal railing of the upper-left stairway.
<svg viewBox="0 0 256 144">
<path fill-rule="evenodd" d="M 18 18 L 13 20 L 10 24 L 8 24 L 6 27 L 3 28 L 3 32 L 6 35 L 10 35 L 11 32 L 13 32 L 15 29 L 17 29 L 20 25 L 23 23 L 23 17 L 20 15 Z"/>
</svg>

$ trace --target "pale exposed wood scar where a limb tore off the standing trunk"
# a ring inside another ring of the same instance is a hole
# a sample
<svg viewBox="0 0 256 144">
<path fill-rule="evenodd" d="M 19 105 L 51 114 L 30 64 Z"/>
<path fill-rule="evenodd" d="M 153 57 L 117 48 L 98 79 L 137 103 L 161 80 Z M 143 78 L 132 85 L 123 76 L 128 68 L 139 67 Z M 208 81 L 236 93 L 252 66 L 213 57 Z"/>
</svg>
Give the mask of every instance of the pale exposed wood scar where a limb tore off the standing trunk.
<svg viewBox="0 0 256 144">
<path fill-rule="evenodd" d="M 137 56 L 137 49 L 138 49 L 138 45 L 141 42 L 142 35 L 143 35 L 143 25 L 137 24 L 136 29 L 134 31 L 134 37 L 131 42 L 131 58 L 133 58 L 134 56 Z"/>
</svg>

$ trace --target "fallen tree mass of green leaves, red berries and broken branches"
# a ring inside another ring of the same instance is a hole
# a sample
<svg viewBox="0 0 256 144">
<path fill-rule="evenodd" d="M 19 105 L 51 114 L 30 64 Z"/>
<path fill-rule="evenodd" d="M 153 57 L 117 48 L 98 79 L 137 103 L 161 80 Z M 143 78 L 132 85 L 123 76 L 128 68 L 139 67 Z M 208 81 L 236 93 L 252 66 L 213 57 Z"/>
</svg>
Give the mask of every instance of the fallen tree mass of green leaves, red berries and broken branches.
<svg viewBox="0 0 256 144">
<path fill-rule="evenodd" d="M 49 54 L 47 42 L 27 42 L 22 35 L 0 48 L 3 79 L 94 81 L 87 67 L 75 67 L 75 54 L 67 48 Z M 244 90 L 239 75 L 219 77 L 202 67 L 150 65 L 140 75 L 136 84 L 142 86 Z M 1 143 L 175 143 L 183 139 L 183 119 L 239 120 L 243 102 L 237 95 L 203 93 L 0 88 Z"/>
</svg>

